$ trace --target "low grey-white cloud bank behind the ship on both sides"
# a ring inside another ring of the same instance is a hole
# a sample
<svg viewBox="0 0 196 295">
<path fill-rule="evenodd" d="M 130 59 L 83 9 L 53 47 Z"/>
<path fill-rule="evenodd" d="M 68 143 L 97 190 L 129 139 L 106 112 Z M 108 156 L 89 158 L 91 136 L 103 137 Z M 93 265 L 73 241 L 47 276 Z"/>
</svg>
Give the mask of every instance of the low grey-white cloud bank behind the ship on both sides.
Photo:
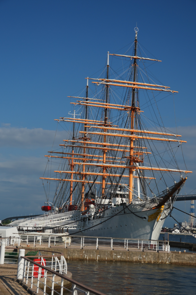
<svg viewBox="0 0 196 295">
<path fill-rule="evenodd" d="M 176 132 L 175 128 L 168 129 Z M 187 169 L 194 171 L 196 126 L 178 127 L 178 133 L 182 135 L 182 140 L 187 140 L 187 143 L 183 145 Z M 55 131 L 53 130 L 0 127 L 0 147 L 4 150 L 3 156 L 1 155 L 0 158 L 0 219 L 11 214 L 41 213 L 41 206 L 43 206 L 46 197 L 42 181 L 39 178 L 43 176 L 45 171 L 47 160 L 44 155 L 49 150 L 47 148 L 51 148 L 54 137 Z M 56 144 L 63 143 L 63 139 L 66 139 L 66 137 L 66 131 L 57 132 Z M 6 149 L 4 147 L 17 147 L 17 149 L 9 149 L 9 154 L 5 154 Z M 34 155 L 32 155 L 30 148 L 36 148 Z M 41 148 L 46 149 L 45 154 Z M 25 156 L 24 154 L 21 156 L 20 150 L 24 152 L 24 149 L 26 149 Z M 176 154 L 177 160 L 180 167 L 182 165 L 182 168 L 185 168 L 180 148 L 179 152 L 179 155 Z M 52 166 L 51 175 L 54 170 Z M 54 196 L 53 184 L 51 183 L 50 186 L 50 201 Z M 195 175 L 191 173 L 186 182 L 186 192 L 189 193 L 195 186 Z M 187 206 L 187 210 L 189 210 L 188 202 Z M 184 210 L 184 203 L 178 202 L 176 207 Z M 177 219 L 183 220 L 182 217 Z"/>
</svg>

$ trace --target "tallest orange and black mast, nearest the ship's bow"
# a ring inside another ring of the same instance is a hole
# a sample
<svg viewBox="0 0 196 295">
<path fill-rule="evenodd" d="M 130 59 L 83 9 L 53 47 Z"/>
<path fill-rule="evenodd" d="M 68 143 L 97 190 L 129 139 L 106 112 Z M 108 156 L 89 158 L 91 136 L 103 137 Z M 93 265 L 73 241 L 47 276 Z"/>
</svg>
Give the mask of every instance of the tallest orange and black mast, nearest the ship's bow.
<svg viewBox="0 0 196 295">
<path fill-rule="evenodd" d="M 135 56 L 137 55 L 137 32 L 138 29 L 136 28 L 135 30 Z M 137 59 L 134 59 L 133 63 L 133 82 L 136 82 L 136 73 L 137 73 Z M 135 88 L 132 90 L 132 108 L 130 110 L 131 112 L 131 129 L 134 129 L 134 116 L 135 116 Z M 133 135 L 134 132 L 131 132 L 131 135 Z M 130 139 L 130 154 L 129 154 L 129 166 L 133 166 L 133 138 Z M 129 169 L 129 204 L 132 202 L 132 197 L 133 197 L 133 168 Z"/>
</svg>

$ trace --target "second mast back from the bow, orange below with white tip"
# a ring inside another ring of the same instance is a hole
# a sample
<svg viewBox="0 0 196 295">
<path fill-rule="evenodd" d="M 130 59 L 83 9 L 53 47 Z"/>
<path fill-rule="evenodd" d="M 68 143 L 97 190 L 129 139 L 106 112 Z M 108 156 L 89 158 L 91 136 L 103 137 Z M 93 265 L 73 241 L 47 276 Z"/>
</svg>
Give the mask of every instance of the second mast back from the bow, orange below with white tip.
<svg viewBox="0 0 196 295">
<path fill-rule="evenodd" d="M 107 79 L 108 79 L 108 74 L 109 74 L 109 51 L 108 51 L 108 63 L 107 63 Z M 108 85 L 106 85 L 106 104 L 108 103 Z M 104 118 L 104 126 L 107 126 L 108 123 L 108 109 L 105 108 L 105 118 Z M 106 133 L 106 129 L 104 129 L 104 133 Z M 106 142 L 106 135 L 103 135 L 103 142 Z M 104 148 L 106 148 L 106 145 L 103 145 Z M 106 150 L 103 150 L 103 164 L 106 163 Z M 105 186 L 106 186 L 106 168 L 103 167 L 103 177 L 102 177 L 102 197 L 105 192 Z"/>
</svg>

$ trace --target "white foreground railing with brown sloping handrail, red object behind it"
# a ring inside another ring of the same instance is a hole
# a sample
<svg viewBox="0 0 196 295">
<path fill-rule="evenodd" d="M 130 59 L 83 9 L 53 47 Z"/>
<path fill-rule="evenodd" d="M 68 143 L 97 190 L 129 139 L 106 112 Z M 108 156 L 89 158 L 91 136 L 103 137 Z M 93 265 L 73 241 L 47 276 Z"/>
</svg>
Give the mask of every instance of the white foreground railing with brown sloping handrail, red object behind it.
<svg viewBox="0 0 196 295">
<path fill-rule="evenodd" d="M 20 250 L 24 251 L 24 249 Z M 22 251 L 19 253 L 17 281 L 33 294 L 79 295 L 79 292 L 85 295 L 90 295 L 90 293 L 105 295 L 66 276 L 65 273 L 61 272 L 60 268 L 58 271 L 56 268 L 57 264 L 49 268 L 41 256 L 40 261 L 36 262 L 20 254 L 22 254 Z"/>
</svg>

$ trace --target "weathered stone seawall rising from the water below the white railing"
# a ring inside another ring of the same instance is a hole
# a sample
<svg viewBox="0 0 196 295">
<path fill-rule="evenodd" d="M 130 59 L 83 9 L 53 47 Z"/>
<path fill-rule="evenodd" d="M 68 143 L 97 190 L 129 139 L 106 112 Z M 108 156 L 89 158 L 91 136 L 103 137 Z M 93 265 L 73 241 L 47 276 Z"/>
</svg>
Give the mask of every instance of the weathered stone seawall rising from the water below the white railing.
<svg viewBox="0 0 196 295">
<path fill-rule="evenodd" d="M 26 247 L 25 247 L 26 248 Z M 35 250 L 39 247 L 34 248 Z M 171 263 L 196 266 L 196 253 L 184 252 L 155 252 L 146 250 L 96 250 L 73 248 L 42 248 L 46 251 L 58 251 L 64 253 L 67 260 L 98 260 L 98 261 L 130 261 L 139 263 Z M 26 248 L 25 253 L 30 249 Z M 49 254 L 49 253 L 48 253 Z"/>
</svg>

